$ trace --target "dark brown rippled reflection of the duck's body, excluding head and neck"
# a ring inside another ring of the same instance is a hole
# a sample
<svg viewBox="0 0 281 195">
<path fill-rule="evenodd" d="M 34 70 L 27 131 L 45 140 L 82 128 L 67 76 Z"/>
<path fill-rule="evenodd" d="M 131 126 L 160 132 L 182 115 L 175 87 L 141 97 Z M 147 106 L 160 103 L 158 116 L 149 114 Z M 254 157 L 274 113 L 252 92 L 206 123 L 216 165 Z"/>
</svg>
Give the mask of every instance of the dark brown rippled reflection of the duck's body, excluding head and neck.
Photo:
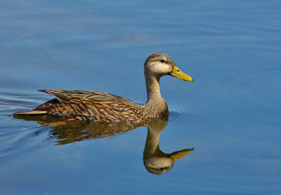
<svg viewBox="0 0 281 195">
<path fill-rule="evenodd" d="M 25 121 L 35 121 L 40 123 L 40 128 L 38 128 L 36 134 L 41 133 L 41 127 L 51 126 L 52 129 L 50 130 L 50 137 L 48 139 L 55 139 L 56 144 L 70 144 L 72 142 L 80 142 L 83 140 L 110 137 L 126 133 L 139 126 L 145 126 L 145 123 L 127 123 L 126 121 L 119 123 L 103 123 L 75 120 L 65 121 L 51 116 L 14 115 L 14 117 L 17 119 L 25 119 Z"/>
</svg>

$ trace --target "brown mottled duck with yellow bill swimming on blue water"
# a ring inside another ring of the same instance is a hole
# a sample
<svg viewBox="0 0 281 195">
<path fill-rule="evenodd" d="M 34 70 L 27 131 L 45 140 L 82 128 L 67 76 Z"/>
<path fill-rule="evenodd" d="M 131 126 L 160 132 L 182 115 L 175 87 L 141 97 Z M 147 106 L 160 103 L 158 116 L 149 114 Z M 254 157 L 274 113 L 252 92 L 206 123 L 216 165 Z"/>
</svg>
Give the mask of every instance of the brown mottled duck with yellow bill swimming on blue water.
<svg viewBox="0 0 281 195">
<path fill-rule="evenodd" d="M 148 100 L 141 105 L 125 97 L 93 90 L 39 90 L 55 98 L 37 108 L 16 112 L 15 115 L 54 116 L 67 120 L 115 123 L 141 121 L 162 117 L 169 112 L 160 93 L 159 81 L 170 75 L 183 81 L 193 82 L 191 76 L 182 72 L 166 53 L 152 53 L 144 64 Z"/>
</svg>

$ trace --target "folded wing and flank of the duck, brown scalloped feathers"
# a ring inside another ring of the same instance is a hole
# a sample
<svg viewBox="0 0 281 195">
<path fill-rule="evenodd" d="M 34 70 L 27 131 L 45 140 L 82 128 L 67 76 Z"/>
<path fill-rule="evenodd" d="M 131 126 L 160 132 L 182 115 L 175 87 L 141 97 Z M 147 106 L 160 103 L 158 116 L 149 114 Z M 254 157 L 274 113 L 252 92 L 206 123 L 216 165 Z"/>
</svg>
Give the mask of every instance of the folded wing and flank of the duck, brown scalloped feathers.
<svg viewBox="0 0 281 195">
<path fill-rule="evenodd" d="M 91 90 L 39 91 L 53 95 L 61 102 L 51 105 L 46 102 L 37 107 L 37 110 L 48 109 L 52 115 L 67 113 L 75 119 L 90 121 L 133 121 L 141 114 L 136 103 L 110 93 Z"/>
</svg>

